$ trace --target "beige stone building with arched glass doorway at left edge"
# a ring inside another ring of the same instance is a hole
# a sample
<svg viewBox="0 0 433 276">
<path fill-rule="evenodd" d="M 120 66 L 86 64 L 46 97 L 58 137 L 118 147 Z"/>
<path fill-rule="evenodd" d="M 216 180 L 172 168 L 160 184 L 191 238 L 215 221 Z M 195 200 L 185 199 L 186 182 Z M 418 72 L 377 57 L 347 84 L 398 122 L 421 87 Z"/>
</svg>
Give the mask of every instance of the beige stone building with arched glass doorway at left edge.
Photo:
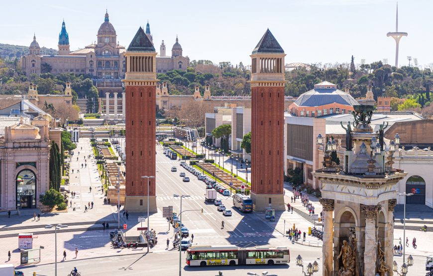
<svg viewBox="0 0 433 276">
<path fill-rule="evenodd" d="M 39 118 L 45 122 L 36 127 L 28 119 L 17 119 L 1 131 L 1 210 L 39 207 L 40 194 L 48 190 L 49 121 Z"/>
</svg>

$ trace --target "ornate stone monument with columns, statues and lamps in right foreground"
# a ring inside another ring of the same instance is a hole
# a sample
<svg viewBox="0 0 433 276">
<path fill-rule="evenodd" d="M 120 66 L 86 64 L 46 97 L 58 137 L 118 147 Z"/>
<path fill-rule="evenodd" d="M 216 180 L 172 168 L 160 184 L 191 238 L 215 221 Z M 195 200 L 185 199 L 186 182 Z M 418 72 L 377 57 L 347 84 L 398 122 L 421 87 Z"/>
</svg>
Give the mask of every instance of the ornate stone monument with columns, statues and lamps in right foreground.
<svg viewBox="0 0 433 276">
<path fill-rule="evenodd" d="M 325 151 L 323 169 L 313 173 L 322 183 L 323 275 L 393 275 L 396 184 L 407 175 L 392 167 L 399 137 L 386 145 L 386 126 L 378 131 L 370 126 L 373 106 L 354 109 L 354 121 L 343 126 L 346 151 L 340 165 L 331 158 L 335 141 L 317 139 Z"/>
</svg>

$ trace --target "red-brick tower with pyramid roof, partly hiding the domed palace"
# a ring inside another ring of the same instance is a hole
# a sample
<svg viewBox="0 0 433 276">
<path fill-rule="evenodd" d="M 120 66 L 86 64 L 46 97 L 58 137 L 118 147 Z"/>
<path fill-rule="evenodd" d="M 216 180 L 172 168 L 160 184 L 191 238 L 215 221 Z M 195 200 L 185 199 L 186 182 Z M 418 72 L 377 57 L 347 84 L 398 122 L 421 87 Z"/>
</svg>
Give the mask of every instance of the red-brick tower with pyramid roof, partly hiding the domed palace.
<svg viewBox="0 0 433 276">
<path fill-rule="evenodd" d="M 156 52 L 140 27 L 125 52 L 126 110 L 126 182 L 125 209 L 156 212 L 155 120 L 156 120 Z M 149 197 L 147 189 L 149 188 Z"/>
</svg>

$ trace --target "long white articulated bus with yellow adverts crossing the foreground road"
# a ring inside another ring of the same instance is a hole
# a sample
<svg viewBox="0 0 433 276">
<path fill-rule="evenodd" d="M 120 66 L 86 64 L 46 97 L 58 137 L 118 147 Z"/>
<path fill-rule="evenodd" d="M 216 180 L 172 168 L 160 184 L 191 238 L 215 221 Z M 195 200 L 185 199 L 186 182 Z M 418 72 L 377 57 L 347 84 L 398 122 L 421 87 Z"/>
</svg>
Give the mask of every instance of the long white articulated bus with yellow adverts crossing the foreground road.
<svg viewBox="0 0 433 276">
<path fill-rule="evenodd" d="M 290 263 L 287 247 L 194 246 L 187 250 L 188 266 L 274 265 Z"/>
</svg>

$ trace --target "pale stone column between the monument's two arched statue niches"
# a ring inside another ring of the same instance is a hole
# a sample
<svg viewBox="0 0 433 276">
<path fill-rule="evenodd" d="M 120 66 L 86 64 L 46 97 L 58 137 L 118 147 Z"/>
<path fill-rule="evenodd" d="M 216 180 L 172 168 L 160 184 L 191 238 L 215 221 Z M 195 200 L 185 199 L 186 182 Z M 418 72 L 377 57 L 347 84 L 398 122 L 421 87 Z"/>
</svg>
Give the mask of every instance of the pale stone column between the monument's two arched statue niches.
<svg viewBox="0 0 433 276">
<path fill-rule="evenodd" d="M 375 276 L 377 259 L 376 218 L 380 205 L 361 205 L 361 210 L 365 215 L 364 276 Z"/>
</svg>

